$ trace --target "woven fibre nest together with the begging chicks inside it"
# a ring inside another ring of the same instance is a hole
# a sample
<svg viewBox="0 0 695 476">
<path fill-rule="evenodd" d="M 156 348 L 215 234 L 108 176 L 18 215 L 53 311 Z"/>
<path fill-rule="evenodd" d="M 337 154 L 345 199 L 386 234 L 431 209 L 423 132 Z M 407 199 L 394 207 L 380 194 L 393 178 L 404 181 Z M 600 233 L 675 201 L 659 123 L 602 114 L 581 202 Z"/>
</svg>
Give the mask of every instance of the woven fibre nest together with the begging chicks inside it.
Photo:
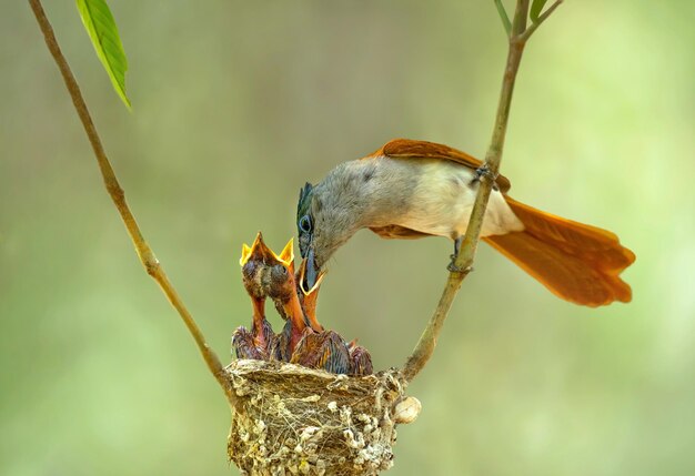
<svg viewBox="0 0 695 476">
<path fill-rule="evenodd" d="M 399 369 L 372 374 L 369 352 L 316 318 L 323 275 L 303 288 L 292 241 L 275 254 L 258 234 L 241 269 L 253 308 L 251 328 L 232 335 L 226 367 L 234 395 L 228 455 L 248 474 L 375 475 L 393 465 L 395 426 L 413 422 L 420 402 L 404 395 Z M 275 334 L 271 298 L 286 321 Z"/>
</svg>

